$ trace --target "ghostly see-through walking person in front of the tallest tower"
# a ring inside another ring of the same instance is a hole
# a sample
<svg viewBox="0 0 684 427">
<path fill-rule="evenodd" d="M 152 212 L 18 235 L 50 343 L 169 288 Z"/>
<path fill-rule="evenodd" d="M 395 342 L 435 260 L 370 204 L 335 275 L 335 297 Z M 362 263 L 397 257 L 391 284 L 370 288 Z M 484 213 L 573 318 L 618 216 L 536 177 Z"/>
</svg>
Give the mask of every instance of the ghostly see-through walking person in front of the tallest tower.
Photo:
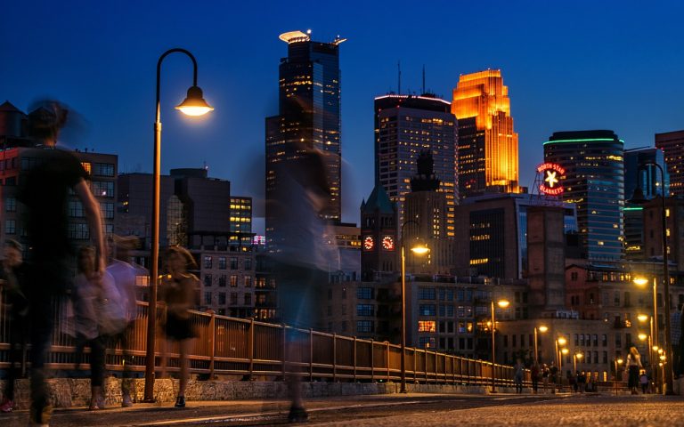
<svg viewBox="0 0 684 427">
<path fill-rule="evenodd" d="M 326 222 L 322 212 L 330 200 L 326 156 L 305 142 L 294 143 L 293 156 L 275 167 L 275 190 L 266 199 L 266 214 L 273 224 L 271 265 L 278 287 L 281 321 L 297 328 L 318 328 L 322 312 L 318 294 L 328 283 L 329 262 L 337 260 L 323 241 Z M 266 224 L 269 227 L 269 223 Z M 285 367 L 290 399 L 289 422 L 305 422 L 301 379 L 295 358 L 302 345 L 296 331 L 285 334 Z"/>
</svg>

